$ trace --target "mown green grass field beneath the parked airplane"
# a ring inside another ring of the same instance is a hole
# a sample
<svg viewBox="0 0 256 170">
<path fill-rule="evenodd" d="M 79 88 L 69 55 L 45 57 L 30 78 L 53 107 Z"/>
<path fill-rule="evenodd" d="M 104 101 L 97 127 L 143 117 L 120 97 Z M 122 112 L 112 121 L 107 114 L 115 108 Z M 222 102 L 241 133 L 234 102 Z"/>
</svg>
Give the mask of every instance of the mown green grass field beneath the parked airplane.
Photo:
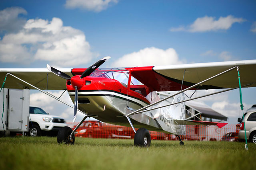
<svg viewBox="0 0 256 170">
<path fill-rule="evenodd" d="M 76 137 L 75 145 L 58 145 L 56 137 L 0 138 L 1 170 L 48 169 L 256 169 L 256 145 L 244 143 L 151 141 L 150 148 L 133 140 Z"/>
</svg>

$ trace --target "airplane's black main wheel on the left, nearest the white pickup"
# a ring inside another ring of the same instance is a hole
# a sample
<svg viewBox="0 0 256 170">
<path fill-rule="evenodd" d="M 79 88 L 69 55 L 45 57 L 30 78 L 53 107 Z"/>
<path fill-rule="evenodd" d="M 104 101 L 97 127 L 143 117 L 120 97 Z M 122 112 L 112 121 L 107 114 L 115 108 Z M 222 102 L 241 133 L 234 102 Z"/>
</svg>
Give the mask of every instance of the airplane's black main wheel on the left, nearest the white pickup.
<svg viewBox="0 0 256 170">
<path fill-rule="evenodd" d="M 74 145 L 75 143 L 75 135 L 72 135 L 72 139 L 70 140 L 70 134 L 72 133 L 72 129 L 68 126 L 62 127 L 57 136 L 57 141 L 59 144 L 65 143 L 65 144 L 71 144 Z"/>
</svg>

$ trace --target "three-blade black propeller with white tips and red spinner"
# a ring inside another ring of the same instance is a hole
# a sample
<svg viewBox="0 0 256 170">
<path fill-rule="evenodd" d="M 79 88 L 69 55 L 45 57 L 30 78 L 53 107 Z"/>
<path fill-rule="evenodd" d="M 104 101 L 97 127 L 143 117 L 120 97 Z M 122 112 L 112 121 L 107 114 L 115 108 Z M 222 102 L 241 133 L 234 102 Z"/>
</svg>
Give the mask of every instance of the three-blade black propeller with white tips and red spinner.
<svg viewBox="0 0 256 170">
<path fill-rule="evenodd" d="M 60 70 L 57 70 L 56 68 L 53 68 L 52 66 L 47 64 L 48 70 L 50 70 L 52 73 L 56 74 L 57 76 L 60 76 L 62 78 L 65 78 L 66 80 L 70 80 L 72 86 L 75 88 L 75 100 L 74 100 L 74 118 L 73 123 L 76 121 L 76 113 L 78 108 L 78 90 L 80 87 L 82 87 L 82 84 L 84 82 L 83 78 L 86 76 L 89 76 L 94 70 L 96 70 L 101 64 L 103 64 L 105 61 L 110 59 L 109 56 L 104 57 L 97 61 L 96 63 L 92 64 L 90 67 L 88 67 L 80 77 L 73 76 L 70 77 L 68 74 L 61 72 Z"/>
</svg>

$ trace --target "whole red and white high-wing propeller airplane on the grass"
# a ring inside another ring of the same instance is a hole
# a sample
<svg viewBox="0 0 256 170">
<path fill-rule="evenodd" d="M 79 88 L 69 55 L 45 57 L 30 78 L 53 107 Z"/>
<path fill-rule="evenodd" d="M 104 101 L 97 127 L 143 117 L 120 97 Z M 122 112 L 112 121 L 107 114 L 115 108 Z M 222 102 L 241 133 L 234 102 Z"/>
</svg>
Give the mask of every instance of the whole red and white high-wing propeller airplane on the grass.
<svg viewBox="0 0 256 170">
<path fill-rule="evenodd" d="M 110 57 L 104 57 L 88 68 L 56 69 L 48 64 L 47 68 L 0 68 L 0 78 L 4 79 L 5 88 L 37 89 L 64 104 L 47 90 L 68 91 L 74 102 L 74 106 L 66 104 L 74 108 L 73 123 L 77 111 L 85 116 L 74 130 L 70 127 L 60 129 L 58 143 L 74 144 L 74 132 L 87 117 L 94 117 L 106 123 L 132 127 L 134 145 L 139 147 L 150 146 L 148 130 L 174 134 L 180 145 L 184 145 L 180 135 L 185 135 L 186 125 L 225 126 L 227 123 L 186 119 L 185 102 L 240 86 L 256 86 L 256 60 L 99 68 L 108 59 Z M 187 90 L 208 89 L 225 90 L 185 100 Z M 163 91 L 176 91 L 176 94 L 160 100 L 156 92 Z M 172 103 L 164 104 L 169 98 L 174 98 Z"/>
</svg>

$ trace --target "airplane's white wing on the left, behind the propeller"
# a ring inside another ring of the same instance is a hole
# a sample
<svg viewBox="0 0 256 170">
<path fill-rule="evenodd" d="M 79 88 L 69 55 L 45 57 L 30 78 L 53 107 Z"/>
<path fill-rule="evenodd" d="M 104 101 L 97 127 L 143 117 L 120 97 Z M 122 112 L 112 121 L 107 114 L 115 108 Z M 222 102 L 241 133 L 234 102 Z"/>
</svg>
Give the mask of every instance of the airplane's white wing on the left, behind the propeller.
<svg viewBox="0 0 256 170">
<path fill-rule="evenodd" d="M 62 68 L 60 71 L 72 76 L 71 68 Z M 46 89 L 46 82 L 48 82 L 48 90 L 65 90 L 66 80 L 56 76 L 50 72 L 47 68 L 0 68 L 0 80 L 3 81 L 6 73 L 11 73 L 14 76 L 36 86 L 40 89 Z M 48 81 L 47 81 L 48 74 Z M 1 84 L 2 86 L 2 84 Z M 32 86 L 8 75 L 4 84 L 5 88 L 28 88 L 34 89 Z"/>
</svg>

